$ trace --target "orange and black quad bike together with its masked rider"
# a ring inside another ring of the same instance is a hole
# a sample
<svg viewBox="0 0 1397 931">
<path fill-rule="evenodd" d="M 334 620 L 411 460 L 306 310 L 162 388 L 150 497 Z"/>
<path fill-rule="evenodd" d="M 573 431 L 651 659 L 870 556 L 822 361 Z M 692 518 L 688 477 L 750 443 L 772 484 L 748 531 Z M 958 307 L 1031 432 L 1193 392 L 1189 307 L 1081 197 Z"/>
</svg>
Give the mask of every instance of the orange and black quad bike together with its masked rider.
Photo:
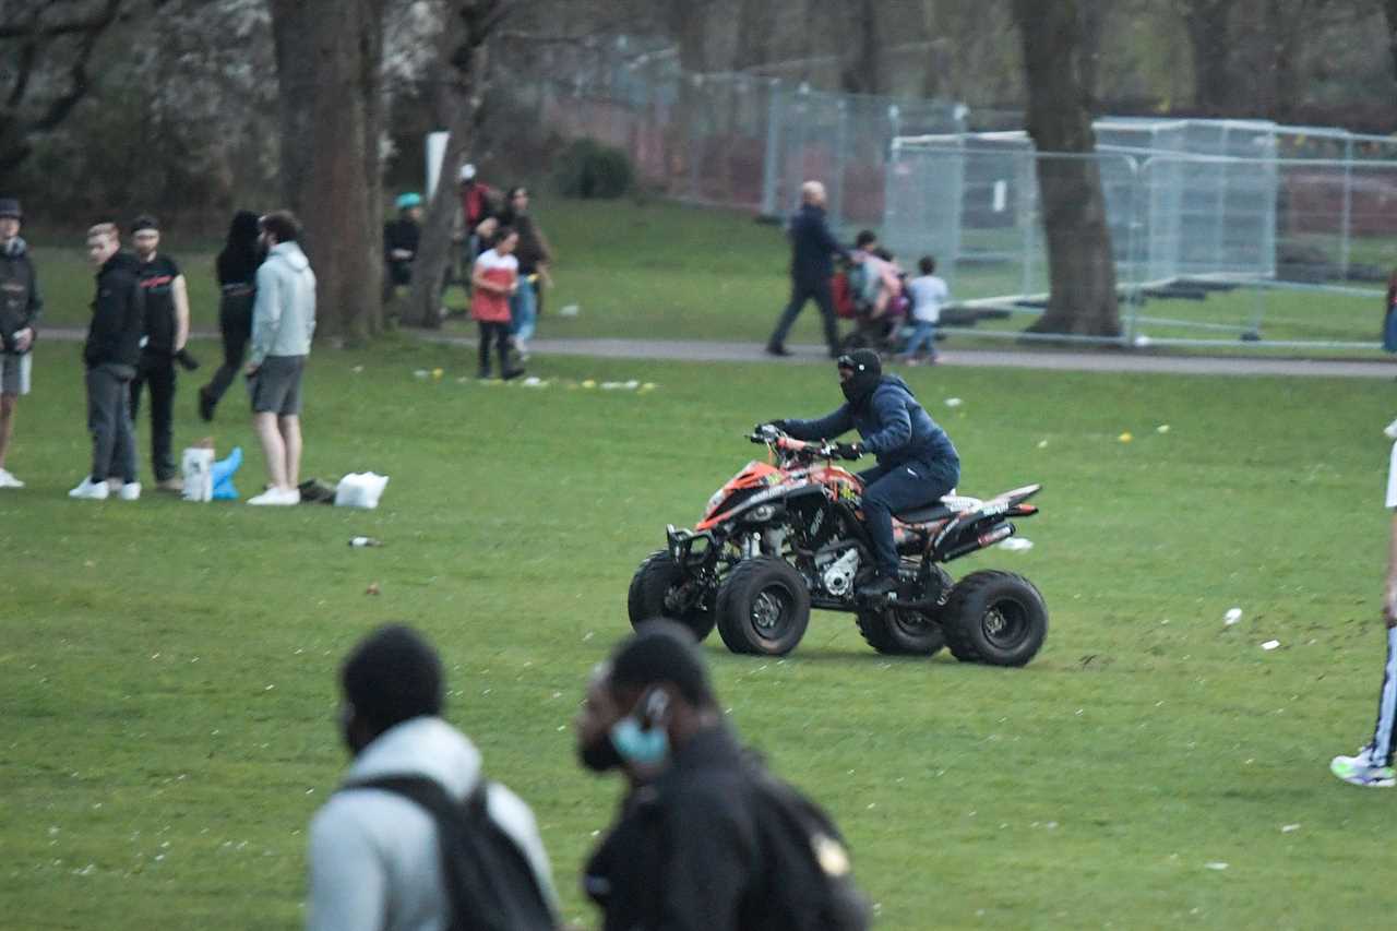
<svg viewBox="0 0 1397 931">
<path fill-rule="evenodd" d="M 856 615 L 880 653 L 1023 665 L 1042 646 L 1048 614 L 1023 576 L 981 569 L 960 582 L 943 566 L 1016 533 L 1038 513 L 1025 485 L 988 500 L 946 495 L 958 457 L 901 379 L 872 352 L 840 359 L 849 403 L 819 421 L 760 424 L 767 446 L 708 499 L 693 530 L 669 526 L 665 548 L 636 570 L 631 625 L 666 616 L 704 639 L 717 626 L 735 653 L 782 656 L 812 608 Z M 828 438 L 858 428 L 863 440 Z M 798 436 L 819 438 L 813 442 Z M 879 456 L 862 475 L 837 459 Z"/>
</svg>

